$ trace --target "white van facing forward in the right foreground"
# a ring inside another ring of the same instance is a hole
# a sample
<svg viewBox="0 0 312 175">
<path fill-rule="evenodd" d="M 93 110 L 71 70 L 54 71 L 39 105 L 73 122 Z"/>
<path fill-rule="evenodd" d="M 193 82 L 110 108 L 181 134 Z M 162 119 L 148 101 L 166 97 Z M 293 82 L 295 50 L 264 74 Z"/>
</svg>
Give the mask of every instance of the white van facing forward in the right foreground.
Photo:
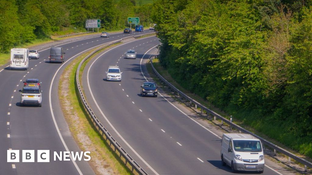
<svg viewBox="0 0 312 175">
<path fill-rule="evenodd" d="M 249 134 L 223 134 L 221 162 L 223 166 L 231 166 L 232 172 L 239 170 L 263 173 L 264 154 L 261 141 Z"/>
</svg>

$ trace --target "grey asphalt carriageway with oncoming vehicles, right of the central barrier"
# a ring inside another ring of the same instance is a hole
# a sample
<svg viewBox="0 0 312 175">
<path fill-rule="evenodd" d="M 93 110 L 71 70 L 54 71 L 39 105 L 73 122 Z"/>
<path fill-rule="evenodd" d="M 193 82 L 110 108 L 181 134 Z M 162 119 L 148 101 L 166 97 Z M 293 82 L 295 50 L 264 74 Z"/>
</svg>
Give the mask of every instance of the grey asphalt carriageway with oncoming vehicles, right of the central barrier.
<svg viewBox="0 0 312 175">
<path fill-rule="evenodd" d="M 221 166 L 222 132 L 207 123 L 200 126 L 191 119 L 197 118 L 193 112 L 161 90 L 157 98 L 140 96 L 145 77 L 152 81 L 145 62 L 158 44 L 156 37 L 135 40 L 90 61 L 82 82 L 89 105 L 115 140 L 149 174 L 232 174 L 229 167 Z M 137 59 L 124 59 L 129 49 L 136 50 Z M 110 65 L 119 66 L 123 72 L 121 82 L 105 81 Z M 281 173 L 266 167 L 264 174 Z"/>
</svg>

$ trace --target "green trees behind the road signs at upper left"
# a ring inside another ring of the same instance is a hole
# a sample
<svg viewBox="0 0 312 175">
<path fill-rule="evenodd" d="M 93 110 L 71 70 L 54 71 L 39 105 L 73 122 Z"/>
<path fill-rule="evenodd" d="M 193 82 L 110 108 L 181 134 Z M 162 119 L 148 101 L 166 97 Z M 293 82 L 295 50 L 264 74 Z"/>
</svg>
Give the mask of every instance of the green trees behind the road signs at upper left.
<svg viewBox="0 0 312 175">
<path fill-rule="evenodd" d="M 140 17 L 140 24 L 149 26 L 151 8 L 134 0 L 1 0 L 0 53 L 64 28 L 85 30 L 86 19 L 100 19 L 104 30 L 129 26 L 128 17 Z"/>
</svg>

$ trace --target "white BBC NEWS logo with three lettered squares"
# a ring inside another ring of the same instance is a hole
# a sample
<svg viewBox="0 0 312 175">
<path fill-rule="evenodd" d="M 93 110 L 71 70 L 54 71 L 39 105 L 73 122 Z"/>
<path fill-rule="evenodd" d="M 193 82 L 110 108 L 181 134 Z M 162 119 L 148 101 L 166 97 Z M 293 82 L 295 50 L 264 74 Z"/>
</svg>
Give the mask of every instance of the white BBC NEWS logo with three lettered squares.
<svg viewBox="0 0 312 175">
<path fill-rule="evenodd" d="M 22 150 L 22 155 L 20 155 L 20 150 L 7 150 L 7 162 L 20 162 L 20 157 L 22 157 L 22 162 L 35 162 L 35 150 Z M 90 151 L 53 152 L 53 161 L 70 161 L 71 158 L 74 161 L 89 161 Z M 50 150 L 37 150 L 37 162 L 50 162 Z"/>
</svg>

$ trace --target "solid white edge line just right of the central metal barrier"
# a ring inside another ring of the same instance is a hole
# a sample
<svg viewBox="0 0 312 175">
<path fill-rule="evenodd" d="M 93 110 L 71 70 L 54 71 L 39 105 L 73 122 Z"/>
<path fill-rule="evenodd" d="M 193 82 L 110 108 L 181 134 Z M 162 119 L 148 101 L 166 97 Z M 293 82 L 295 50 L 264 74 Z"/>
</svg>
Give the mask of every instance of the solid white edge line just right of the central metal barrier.
<svg viewBox="0 0 312 175">
<path fill-rule="evenodd" d="M 145 39 L 145 38 L 142 38 L 142 39 L 139 39 L 139 40 L 143 40 L 143 39 Z M 138 41 L 138 40 L 134 40 L 134 41 Z M 133 42 L 133 41 L 131 41 L 131 42 Z M 125 44 L 129 44 L 130 42 L 128 42 L 128 43 L 124 43 L 124 44 L 122 44 L 122 45 L 125 45 Z M 122 46 L 122 45 L 118 45 L 118 46 L 116 46 L 116 47 L 119 47 L 119 46 Z M 110 50 L 113 50 L 113 49 L 115 49 L 116 47 L 114 47 L 114 48 L 111 48 Z M 147 165 L 148 166 L 148 168 L 151 170 L 151 171 L 153 171 L 156 175 L 159 175 L 133 148 L 132 148 L 132 146 L 119 134 L 119 132 L 116 130 L 116 128 L 110 123 L 110 121 L 107 119 L 107 117 L 104 115 L 104 113 L 103 113 L 103 111 L 101 110 L 101 108 L 100 108 L 100 106 L 97 104 L 97 102 L 95 101 L 95 98 L 94 98 L 94 96 L 93 96 L 93 93 L 92 93 L 92 90 L 91 90 L 91 87 L 90 87 L 90 83 L 89 83 L 89 72 L 90 72 L 90 69 L 91 69 L 91 67 L 92 67 L 92 65 L 95 63 L 95 61 L 97 60 L 97 59 L 99 59 L 102 55 L 104 55 L 105 53 L 107 53 L 108 51 L 110 51 L 110 50 L 107 50 L 106 52 L 104 52 L 103 54 L 101 54 L 100 56 L 98 56 L 93 62 L 92 62 L 92 64 L 90 65 L 90 67 L 89 67 L 89 69 L 88 69 L 88 72 L 87 72 L 87 82 L 88 82 L 88 88 L 89 88 L 89 91 L 90 91 L 90 94 L 91 94 L 91 97 L 92 97 L 92 99 L 93 99 L 93 101 L 95 102 L 95 105 L 96 105 L 96 107 L 99 109 L 99 111 L 100 111 L 100 113 L 102 114 L 102 116 L 105 118 L 105 120 L 107 121 L 107 123 L 110 125 L 110 127 L 115 131 L 115 133 L 120 137 L 120 139 L 122 140 L 122 141 L 124 141 L 124 143 L 134 152 L 134 154 L 136 155 L 136 156 L 138 156 L 139 157 L 139 159 L 140 160 L 142 160 L 142 162 L 143 163 L 145 163 L 145 165 Z"/>
</svg>

